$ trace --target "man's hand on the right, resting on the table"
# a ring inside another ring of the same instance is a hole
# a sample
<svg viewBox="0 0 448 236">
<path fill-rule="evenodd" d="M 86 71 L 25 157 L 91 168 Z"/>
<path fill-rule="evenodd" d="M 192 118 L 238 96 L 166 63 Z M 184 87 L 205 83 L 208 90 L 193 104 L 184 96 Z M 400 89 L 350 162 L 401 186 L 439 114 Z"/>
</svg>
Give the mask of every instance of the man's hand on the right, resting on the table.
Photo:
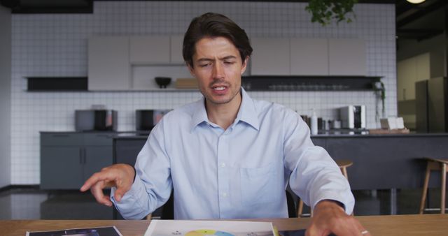
<svg viewBox="0 0 448 236">
<path fill-rule="evenodd" d="M 306 236 L 330 235 L 371 236 L 371 234 L 353 216 L 331 200 L 322 200 L 316 204 L 307 228 Z"/>
</svg>

